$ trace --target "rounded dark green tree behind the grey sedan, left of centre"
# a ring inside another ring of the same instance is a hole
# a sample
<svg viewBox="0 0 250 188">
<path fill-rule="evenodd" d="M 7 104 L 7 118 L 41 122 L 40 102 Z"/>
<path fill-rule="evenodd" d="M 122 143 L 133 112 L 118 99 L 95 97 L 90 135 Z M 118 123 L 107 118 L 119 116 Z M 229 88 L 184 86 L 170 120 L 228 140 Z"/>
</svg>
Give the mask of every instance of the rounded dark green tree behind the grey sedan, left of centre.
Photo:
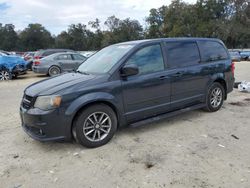
<svg viewBox="0 0 250 188">
<path fill-rule="evenodd" d="M 52 47 L 54 39 L 41 24 L 29 24 L 20 34 L 22 50 L 38 50 Z"/>
</svg>

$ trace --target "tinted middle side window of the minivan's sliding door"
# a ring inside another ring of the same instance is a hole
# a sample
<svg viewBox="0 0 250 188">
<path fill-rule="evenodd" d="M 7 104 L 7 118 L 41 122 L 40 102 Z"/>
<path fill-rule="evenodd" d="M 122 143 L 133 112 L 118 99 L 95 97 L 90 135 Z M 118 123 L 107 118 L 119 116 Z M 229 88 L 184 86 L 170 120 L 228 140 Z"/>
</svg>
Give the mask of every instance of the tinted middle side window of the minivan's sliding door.
<svg viewBox="0 0 250 188">
<path fill-rule="evenodd" d="M 169 42 L 166 46 L 168 64 L 171 68 L 195 65 L 200 62 L 196 42 Z"/>
</svg>

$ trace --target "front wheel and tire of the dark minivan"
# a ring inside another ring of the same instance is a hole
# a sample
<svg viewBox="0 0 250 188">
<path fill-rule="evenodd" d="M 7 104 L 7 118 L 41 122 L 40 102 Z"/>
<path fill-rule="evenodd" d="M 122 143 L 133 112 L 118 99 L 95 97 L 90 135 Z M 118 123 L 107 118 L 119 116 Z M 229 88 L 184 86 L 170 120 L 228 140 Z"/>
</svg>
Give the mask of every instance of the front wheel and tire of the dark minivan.
<svg viewBox="0 0 250 188">
<path fill-rule="evenodd" d="M 73 127 L 73 136 L 77 142 L 88 148 L 108 143 L 117 130 L 115 112 L 107 105 L 97 104 L 83 110 Z"/>
</svg>

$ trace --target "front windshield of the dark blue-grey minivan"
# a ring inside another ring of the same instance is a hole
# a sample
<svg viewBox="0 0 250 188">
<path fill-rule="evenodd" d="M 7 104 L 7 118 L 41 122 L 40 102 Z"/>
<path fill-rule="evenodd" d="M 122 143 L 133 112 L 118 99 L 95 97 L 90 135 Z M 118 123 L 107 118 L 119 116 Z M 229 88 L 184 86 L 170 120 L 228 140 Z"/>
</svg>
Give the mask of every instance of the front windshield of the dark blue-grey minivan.
<svg viewBox="0 0 250 188">
<path fill-rule="evenodd" d="M 82 73 L 107 73 L 134 45 L 121 44 L 103 48 L 88 58 L 77 71 Z"/>
</svg>

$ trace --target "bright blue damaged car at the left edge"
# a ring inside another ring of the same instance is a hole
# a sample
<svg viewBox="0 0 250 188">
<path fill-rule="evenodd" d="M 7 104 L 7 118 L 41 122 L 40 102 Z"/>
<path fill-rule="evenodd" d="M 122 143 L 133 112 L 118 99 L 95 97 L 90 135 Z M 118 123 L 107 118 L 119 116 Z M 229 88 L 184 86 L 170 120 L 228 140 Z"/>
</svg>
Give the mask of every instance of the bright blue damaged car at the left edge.
<svg viewBox="0 0 250 188">
<path fill-rule="evenodd" d="M 27 62 L 21 57 L 0 52 L 0 80 L 11 80 L 18 75 L 25 74 L 26 64 Z"/>
</svg>

